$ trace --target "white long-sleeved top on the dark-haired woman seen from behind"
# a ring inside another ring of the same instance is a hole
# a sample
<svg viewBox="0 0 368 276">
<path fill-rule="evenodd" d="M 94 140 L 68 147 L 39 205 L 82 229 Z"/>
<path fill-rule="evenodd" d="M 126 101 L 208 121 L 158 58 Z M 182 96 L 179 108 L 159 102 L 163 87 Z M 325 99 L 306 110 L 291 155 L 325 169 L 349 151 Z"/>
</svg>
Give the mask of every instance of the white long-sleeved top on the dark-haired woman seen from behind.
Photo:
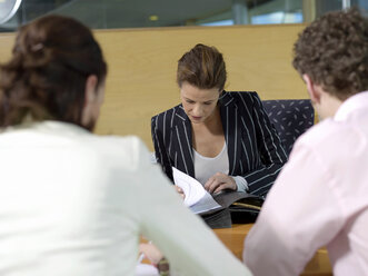
<svg viewBox="0 0 368 276">
<path fill-rule="evenodd" d="M 180 275 L 250 275 L 137 137 L 46 121 L 2 132 L 0 152 L 3 276 L 133 275 L 140 235 Z"/>
</svg>

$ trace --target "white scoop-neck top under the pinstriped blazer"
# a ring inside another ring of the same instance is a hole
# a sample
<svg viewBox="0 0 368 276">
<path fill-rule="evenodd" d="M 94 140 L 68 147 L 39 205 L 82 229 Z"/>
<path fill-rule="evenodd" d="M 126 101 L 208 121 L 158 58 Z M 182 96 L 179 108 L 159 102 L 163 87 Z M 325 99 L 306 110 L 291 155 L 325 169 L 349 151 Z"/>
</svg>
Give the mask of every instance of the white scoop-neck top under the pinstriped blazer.
<svg viewBox="0 0 368 276">
<path fill-rule="evenodd" d="M 223 142 L 223 147 L 220 154 L 216 157 L 206 157 L 197 152 L 193 148 L 195 152 L 195 171 L 196 179 L 205 186 L 207 180 L 213 176 L 216 172 L 223 172 L 226 175 L 229 174 L 229 157 L 228 157 L 228 147 L 226 142 Z"/>
</svg>

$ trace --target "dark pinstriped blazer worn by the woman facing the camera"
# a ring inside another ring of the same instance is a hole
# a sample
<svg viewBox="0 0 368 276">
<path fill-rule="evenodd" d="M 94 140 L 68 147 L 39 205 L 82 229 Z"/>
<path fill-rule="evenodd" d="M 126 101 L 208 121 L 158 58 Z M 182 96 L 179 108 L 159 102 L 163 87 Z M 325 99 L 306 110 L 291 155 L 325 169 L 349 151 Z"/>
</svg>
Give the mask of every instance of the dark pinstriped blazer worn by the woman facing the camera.
<svg viewBox="0 0 368 276">
<path fill-rule="evenodd" d="M 219 98 L 229 175 L 242 176 L 248 193 L 265 196 L 287 161 L 280 138 L 256 92 L 226 92 Z M 172 180 L 172 169 L 196 177 L 190 119 L 181 105 L 151 119 L 156 159 Z"/>
</svg>

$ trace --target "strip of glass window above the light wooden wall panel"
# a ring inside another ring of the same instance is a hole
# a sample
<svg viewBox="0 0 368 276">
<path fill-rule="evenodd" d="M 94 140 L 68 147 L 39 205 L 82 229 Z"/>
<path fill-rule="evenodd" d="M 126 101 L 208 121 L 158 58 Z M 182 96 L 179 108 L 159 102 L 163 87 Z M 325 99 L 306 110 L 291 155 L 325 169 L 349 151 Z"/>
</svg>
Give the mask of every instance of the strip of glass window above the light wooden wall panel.
<svg viewBox="0 0 368 276">
<path fill-rule="evenodd" d="M 0 0 L 0 31 L 48 13 L 77 18 L 93 29 L 309 22 L 367 0 Z"/>
</svg>

